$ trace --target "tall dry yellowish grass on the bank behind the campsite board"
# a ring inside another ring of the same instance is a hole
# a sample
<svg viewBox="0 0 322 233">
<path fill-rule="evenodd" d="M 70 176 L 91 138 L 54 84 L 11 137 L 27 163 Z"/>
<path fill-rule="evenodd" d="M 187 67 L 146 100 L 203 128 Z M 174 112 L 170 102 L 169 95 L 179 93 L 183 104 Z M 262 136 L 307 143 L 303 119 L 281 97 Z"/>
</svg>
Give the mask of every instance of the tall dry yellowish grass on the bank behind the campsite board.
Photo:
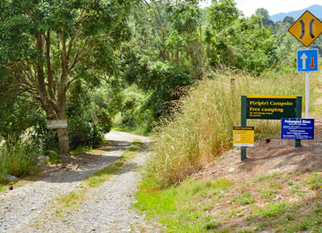
<svg viewBox="0 0 322 233">
<path fill-rule="evenodd" d="M 145 177 L 157 186 L 178 183 L 232 148 L 233 125 L 240 125 L 241 96 L 304 96 L 304 77 L 254 78 L 216 75 L 192 87 L 172 120 L 157 127 Z M 303 104 L 304 105 L 304 104 Z M 278 133 L 279 121 L 248 121 L 259 137 Z"/>
</svg>

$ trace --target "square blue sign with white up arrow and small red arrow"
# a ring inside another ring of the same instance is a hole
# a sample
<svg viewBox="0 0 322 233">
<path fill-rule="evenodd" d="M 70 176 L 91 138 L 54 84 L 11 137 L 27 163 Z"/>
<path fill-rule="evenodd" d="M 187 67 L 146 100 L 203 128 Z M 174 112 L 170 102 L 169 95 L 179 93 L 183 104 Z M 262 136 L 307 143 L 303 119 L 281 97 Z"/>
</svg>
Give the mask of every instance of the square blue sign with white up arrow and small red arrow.
<svg viewBox="0 0 322 233">
<path fill-rule="evenodd" d="M 318 49 L 297 51 L 297 71 L 318 71 Z"/>
</svg>

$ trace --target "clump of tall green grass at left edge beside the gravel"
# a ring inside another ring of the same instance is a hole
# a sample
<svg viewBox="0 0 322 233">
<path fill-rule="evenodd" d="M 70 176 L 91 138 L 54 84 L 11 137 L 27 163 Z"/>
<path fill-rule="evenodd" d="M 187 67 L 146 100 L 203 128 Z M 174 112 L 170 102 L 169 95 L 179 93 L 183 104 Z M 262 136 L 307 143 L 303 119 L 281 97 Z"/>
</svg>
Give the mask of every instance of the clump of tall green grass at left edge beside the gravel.
<svg viewBox="0 0 322 233">
<path fill-rule="evenodd" d="M 0 146 L 0 183 L 6 181 L 6 174 L 21 177 L 35 169 L 38 148 L 27 141 L 13 139 Z"/>
</svg>

